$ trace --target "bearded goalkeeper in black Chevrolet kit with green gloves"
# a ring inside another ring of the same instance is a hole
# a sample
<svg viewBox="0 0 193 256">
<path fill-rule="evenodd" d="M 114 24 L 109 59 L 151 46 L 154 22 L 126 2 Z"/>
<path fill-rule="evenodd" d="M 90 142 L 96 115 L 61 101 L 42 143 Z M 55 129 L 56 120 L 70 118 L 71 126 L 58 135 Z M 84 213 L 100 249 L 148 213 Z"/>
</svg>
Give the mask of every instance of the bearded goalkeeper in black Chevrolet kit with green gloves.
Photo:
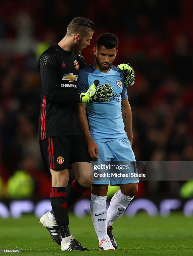
<svg viewBox="0 0 193 256">
<path fill-rule="evenodd" d="M 62 251 L 85 251 L 88 248 L 74 239 L 69 231 L 68 207 L 77 201 L 93 183 L 90 156 L 78 126 L 77 103 L 109 102 L 110 84 L 98 86 L 93 81 L 88 91 L 77 93 L 79 70 L 87 66 L 81 51 L 90 45 L 94 23 L 74 18 L 66 36 L 42 53 L 38 60 L 41 82 L 39 145 L 45 169 L 50 169 L 52 210 L 40 218 L 53 241 Z M 76 180 L 68 187 L 68 168 Z"/>
</svg>

